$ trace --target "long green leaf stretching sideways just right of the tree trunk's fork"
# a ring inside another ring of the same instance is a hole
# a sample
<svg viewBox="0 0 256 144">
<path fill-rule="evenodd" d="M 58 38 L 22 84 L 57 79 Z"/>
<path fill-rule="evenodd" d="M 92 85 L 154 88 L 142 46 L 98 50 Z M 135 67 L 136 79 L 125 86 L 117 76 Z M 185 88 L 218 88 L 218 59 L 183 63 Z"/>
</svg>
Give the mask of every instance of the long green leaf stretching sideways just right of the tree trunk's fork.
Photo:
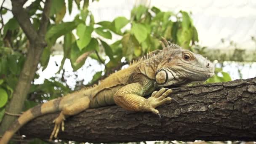
<svg viewBox="0 0 256 144">
<path fill-rule="evenodd" d="M 47 31 L 45 39 L 48 41 L 48 43 L 54 44 L 57 38 L 71 32 L 76 26 L 77 24 L 73 21 L 54 25 Z"/>
</svg>

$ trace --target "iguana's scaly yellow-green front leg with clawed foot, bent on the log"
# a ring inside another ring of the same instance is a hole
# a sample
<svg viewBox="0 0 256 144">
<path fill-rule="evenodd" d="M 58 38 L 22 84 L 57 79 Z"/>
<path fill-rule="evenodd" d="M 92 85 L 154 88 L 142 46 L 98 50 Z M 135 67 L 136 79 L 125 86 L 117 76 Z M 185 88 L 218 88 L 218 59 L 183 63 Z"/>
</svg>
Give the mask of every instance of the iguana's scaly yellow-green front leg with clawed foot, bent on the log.
<svg viewBox="0 0 256 144">
<path fill-rule="evenodd" d="M 152 80 L 144 78 L 144 81 L 141 83 L 131 83 L 120 88 L 114 95 L 114 101 L 117 105 L 127 110 L 153 112 L 159 115 L 158 110 L 155 108 L 171 101 L 171 98 L 166 98 L 166 96 L 168 96 L 172 90 L 162 88 L 160 91 L 154 91 L 148 99 L 142 97 L 153 87 L 154 84 Z"/>
</svg>

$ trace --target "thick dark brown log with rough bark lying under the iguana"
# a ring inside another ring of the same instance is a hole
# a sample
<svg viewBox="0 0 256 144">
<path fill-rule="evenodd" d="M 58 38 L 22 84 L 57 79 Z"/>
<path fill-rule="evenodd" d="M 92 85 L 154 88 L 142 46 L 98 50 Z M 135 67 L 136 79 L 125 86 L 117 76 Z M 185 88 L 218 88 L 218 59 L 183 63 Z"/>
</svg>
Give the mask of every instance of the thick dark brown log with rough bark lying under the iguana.
<svg viewBox="0 0 256 144">
<path fill-rule="evenodd" d="M 256 141 L 256 78 L 184 87 L 170 95 L 171 104 L 149 112 L 129 112 L 109 106 L 69 117 L 59 139 L 87 142 L 125 141 Z M 20 133 L 48 139 L 53 119 L 44 115 Z"/>
</svg>

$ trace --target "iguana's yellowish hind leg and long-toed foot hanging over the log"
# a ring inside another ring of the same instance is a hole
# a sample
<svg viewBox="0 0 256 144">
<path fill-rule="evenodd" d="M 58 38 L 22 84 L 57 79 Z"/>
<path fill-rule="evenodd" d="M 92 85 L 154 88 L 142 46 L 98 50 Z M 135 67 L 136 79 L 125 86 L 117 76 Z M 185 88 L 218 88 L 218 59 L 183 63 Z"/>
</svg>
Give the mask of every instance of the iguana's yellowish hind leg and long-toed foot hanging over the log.
<svg viewBox="0 0 256 144">
<path fill-rule="evenodd" d="M 59 116 L 53 120 L 53 123 L 55 123 L 55 126 L 53 128 L 53 132 L 50 136 L 50 141 L 53 139 L 53 136 L 57 138 L 59 129 L 61 128 L 62 131 L 64 131 L 64 120 L 71 116 L 76 115 L 85 109 L 89 108 L 90 99 L 88 96 L 82 97 L 80 99 L 77 99 L 74 104 L 70 104 L 67 106 L 64 106 Z"/>
</svg>

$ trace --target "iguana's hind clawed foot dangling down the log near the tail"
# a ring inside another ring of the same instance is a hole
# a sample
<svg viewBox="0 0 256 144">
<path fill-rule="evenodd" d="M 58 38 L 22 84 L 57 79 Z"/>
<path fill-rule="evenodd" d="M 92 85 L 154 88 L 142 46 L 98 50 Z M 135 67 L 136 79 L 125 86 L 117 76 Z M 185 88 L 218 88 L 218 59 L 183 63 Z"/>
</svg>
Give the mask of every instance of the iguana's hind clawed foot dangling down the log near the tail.
<svg viewBox="0 0 256 144">
<path fill-rule="evenodd" d="M 49 141 L 52 141 L 53 136 L 57 138 L 60 127 L 61 127 L 61 130 L 64 131 L 64 120 L 65 120 L 65 116 L 63 115 L 62 112 L 59 114 L 59 116 L 55 120 L 53 120 L 53 123 L 55 123 L 55 126 L 53 128 L 53 132 L 51 133 Z"/>
</svg>

